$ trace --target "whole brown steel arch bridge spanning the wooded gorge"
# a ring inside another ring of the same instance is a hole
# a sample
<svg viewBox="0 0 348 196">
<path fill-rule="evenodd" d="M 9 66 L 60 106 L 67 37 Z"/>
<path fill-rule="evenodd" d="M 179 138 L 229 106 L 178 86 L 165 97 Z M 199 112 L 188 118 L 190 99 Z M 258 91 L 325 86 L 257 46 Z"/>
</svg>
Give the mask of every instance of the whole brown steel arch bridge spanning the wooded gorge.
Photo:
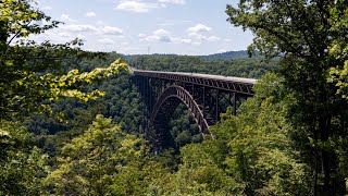
<svg viewBox="0 0 348 196">
<path fill-rule="evenodd" d="M 228 107 L 233 114 L 253 96 L 257 79 L 182 72 L 133 70 L 134 81 L 147 106 L 149 122 L 145 135 L 154 146 L 167 146 L 169 122 L 182 102 L 190 111 L 201 134 L 220 120 Z"/>
</svg>

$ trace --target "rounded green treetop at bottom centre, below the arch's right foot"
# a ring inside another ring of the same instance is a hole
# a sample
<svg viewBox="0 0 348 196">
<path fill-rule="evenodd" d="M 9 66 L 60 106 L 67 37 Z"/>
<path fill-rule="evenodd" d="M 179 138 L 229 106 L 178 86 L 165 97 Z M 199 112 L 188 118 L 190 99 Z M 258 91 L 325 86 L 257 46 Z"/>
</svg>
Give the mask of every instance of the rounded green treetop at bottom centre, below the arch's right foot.
<svg viewBox="0 0 348 196">
<path fill-rule="evenodd" d="M 211 156 L 209 143 L 191 144 L 182 148 L 183 163 L 175 173 L 173 192 L 192 195 L 232 195 L 238 192 L 238 184 Z"/>
</svg>

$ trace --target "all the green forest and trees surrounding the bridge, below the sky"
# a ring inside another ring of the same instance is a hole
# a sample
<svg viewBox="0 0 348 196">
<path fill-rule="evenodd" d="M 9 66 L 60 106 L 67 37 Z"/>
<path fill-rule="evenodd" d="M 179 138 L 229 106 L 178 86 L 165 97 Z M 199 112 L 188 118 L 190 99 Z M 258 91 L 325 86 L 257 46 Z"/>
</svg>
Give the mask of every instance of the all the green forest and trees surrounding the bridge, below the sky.
<svg viewBox="0 0 348 196">
<path fill-rule="evenodd" d="M 228 22 L 256 36 L 254 58 L 39 44 L 28 36 L 59 22 L 33 3 L 0 0 L 0 195 L 347 194 L 347 0 L 227 5 Z M 156 155 L 126 63 L 260 79 L 237 117 L 227 110 L 210 127 L 214 139 L 179 105 L 175 143 Z"/>
</svg>

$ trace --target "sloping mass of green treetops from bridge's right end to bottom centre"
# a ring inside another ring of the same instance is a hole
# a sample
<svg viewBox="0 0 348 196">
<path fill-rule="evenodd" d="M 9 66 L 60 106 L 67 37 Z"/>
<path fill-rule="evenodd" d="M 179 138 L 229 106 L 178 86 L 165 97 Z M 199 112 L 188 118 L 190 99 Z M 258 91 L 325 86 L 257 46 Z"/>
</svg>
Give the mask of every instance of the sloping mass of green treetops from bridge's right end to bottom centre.
<svg viewBox="0 0 348 196">
<path fill-rule="evenodd" d="M 152 191 L 158 195 L 310 195 L 312 173 L 299 161 L 294 128 L 286 119 L 294 98 L 285 94 L 276 74 L 263 76 L 254 91 L 238 117 L 223 114 L 211 127 L 215 139 L 182 147 L 177 171 L 156 179 Z"/>
</svg>

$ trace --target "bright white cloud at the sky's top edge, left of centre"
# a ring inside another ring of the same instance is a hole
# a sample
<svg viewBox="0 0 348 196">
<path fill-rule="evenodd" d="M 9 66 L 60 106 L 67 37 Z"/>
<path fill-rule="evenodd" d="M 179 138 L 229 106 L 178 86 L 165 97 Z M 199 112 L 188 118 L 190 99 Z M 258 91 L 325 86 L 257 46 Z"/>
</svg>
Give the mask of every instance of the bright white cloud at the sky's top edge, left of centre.
<svg viewBox="0 0 348 196">
<path fill-rule="evenodd" d="M 158 8 L 157 3 L 145 3 L 139 1 L 121 1 L 120 4 L 117 4 L 117 7 L 115 8 L 115 10 L 146 13 L 156 8 Z"/>
</svg>

